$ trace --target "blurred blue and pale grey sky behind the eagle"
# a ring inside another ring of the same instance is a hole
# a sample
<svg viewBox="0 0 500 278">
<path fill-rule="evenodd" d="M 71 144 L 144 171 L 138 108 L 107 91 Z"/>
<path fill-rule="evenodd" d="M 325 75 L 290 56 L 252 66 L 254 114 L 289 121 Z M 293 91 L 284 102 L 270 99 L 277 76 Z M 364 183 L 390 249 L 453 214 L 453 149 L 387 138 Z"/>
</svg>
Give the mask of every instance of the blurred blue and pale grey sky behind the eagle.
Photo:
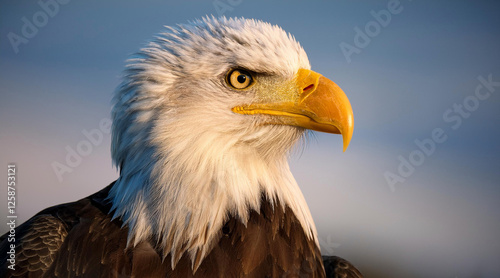
<svg viewBox="0 0 500 278">
<path fill-rule="evenodd" d="M 221 2 L 233 4 L 225 16 L 295 35 L 313 70 L 351 100 L 355 131 L 345 153 L 340 136 L 315 133 L 291 157 L 324 253 L 353 261 L 367 277 L 500 277 L 500 87 L 458 128 L 443 119 L 471 100 L 479 76 L 500 82 L 498 1 L 401 0 L 401 12 L 350 62 L 339 45 L 355 46 L 355 28 L 364 30 L 371 11 L 390 1 L 69 1 L 18 53 L 8 34 L 22 35 L 23 17 L 33 22 L 43 9 L 0 1 L 0 165 L 17 165 L 20 221 L 117 177 L 106 133 L 62 181 L 51 164 L 64 164 L 67 148 L 87 140 L 82 131 L 109 118 L 129 55 L 163 25 L 218 16 Z M 408 159 L 414 141 L 435 128 L 447 140 L 391 188 L 384 173 L 397 174 L 398 157 Z M 6 207 L 2 197 L 5 221 Z"/>
</svg>

